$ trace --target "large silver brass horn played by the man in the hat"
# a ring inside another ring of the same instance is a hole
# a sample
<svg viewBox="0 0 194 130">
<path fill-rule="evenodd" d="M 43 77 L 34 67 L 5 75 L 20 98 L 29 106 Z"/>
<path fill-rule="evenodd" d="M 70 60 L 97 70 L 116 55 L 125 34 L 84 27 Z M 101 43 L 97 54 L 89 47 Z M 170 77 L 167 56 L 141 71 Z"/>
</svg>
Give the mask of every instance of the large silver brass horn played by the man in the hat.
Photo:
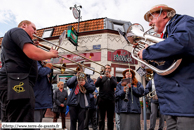
<svg viewBox="0 0 194 130">
<path fill-rule="evenodd" d="M 153 29 L 153 28 L 151 28 Z M 140 63 L 146 65 L 147 67 L 149 67 L 150 69 L 152 69 L 154 72 L 156 72 L 158 75 L 168 75 L 170 73 L 172 73 L 173 71 L 175 71 L 177 69 L 177 67 L 180 65 L 182 59 L 178 59 L 176 61 L 174 61 L 172 63 L 172 65 L 165 69 L 165 70 L 160 70 L 154 66 L 152 66 L 151 64 L 148 63 L 148 61 L 145 61 L 145 60 L 141 60 L 138 56 L 138 52 L 141 50 L 141 49 L 144 49 L 145 48 L 145 45 L 147 44 L 148 46 L 151 46 L 151 45 L 154 45 L 155 43 L 158 43 L 158 42 L 161 42 L 163 41 L 164 39 L 162 38 L 159 38 L 157 36 L 153 36 L 153 35 L 150 35 L 148 34 L 148 32 L 151 30 L 149 29 L 148 31 L 146 31 L 144 33 L 144 29 L 143 27 L 136 23 L 136 24 L 132 24 L 128 30 L 127 30 L 127 33 L 123 33 L 121 32 L 120 30 L 118 30 L 120 36 L 122 36 L 122 38 L 124 37 L 125 40 L 127 41 L 127 43 L 131 43 L 131 44 L 138 44 L 136 45 L 133 49 L 132 49 L 132 57 L 139 61 Z M 156 62 L 156 61 L 154 61 Z M 165 61 L 164 61 L 165 62 Z M 160 64 L 158 62 L 156 62 L 157 64 Z M 162 64 L 162 63 L 161 63 Z"/>
</svg>

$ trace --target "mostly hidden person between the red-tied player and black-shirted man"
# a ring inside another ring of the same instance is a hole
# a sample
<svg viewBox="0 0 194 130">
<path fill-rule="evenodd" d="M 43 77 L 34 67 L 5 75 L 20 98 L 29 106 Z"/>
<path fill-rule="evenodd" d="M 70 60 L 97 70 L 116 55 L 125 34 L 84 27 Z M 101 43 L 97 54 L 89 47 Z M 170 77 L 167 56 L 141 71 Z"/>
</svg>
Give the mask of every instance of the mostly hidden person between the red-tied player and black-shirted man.
<svg viewBox="0 0 194 130">
<path fill-rule="evenodd" d="M 92 79 L 94 81 L 94 84 L 96 82 L 96 79 Z M 89 130 L 88 126 L 91 122 L 93 130 L 97 130 L 97 94 L 98 90 L 96 89 L 93 93 L 89 93 L 90 95 L 90 105 L 86 109 L 86 118 L 84 120 L 84 130 Z"/>
</svg>

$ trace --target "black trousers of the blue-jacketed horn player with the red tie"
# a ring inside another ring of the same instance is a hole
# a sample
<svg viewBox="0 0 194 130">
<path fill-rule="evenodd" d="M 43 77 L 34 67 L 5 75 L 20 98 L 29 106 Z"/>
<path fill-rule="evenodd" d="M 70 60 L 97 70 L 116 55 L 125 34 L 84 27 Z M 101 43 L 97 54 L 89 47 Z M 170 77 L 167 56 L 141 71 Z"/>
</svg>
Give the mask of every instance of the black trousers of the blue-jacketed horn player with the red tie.
<svg viewBox="0 0 194 130">
<path fill-rule="evenodd" d="M 76 130 L 78 120 L 78 130 L 84 129 L 85 108 L 78 106 L 69 106 L 69 114 L 71 118 L 70 130 Z"/>
</svg>

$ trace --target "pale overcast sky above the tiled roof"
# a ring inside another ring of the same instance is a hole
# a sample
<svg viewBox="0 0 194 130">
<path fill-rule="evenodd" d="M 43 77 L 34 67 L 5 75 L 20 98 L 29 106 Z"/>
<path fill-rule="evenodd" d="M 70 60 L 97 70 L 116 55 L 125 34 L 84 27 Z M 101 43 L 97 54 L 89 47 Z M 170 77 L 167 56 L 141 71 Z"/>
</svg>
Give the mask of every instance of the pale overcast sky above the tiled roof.
<svg viewBox="0 0 194 130">
<path fill-rule="evenodd" d="M 108 17 L 140 23 L 149 29 L 144 14 L 156 4 L 166 4 L 178 14 L 194 17 L 193 0 L 0 0 L 0 37 L 22 20 L 37 29 L 77 22 L 69 7 L 82 5 L 81 21 Z"/>
</svg>

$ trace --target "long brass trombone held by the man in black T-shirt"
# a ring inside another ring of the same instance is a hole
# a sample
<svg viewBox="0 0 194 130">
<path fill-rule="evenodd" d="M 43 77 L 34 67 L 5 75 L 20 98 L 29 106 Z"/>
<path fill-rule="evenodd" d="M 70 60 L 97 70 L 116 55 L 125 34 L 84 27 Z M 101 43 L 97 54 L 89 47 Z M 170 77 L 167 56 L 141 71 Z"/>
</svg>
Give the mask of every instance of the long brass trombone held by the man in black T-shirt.
<svg viewBox="0 0 194 130">
<path fill-rule="evenodd" d="M 69 58 L 66 58 L 66 57 L 64 57 L 64 56 L 62 56 L 62 55 L 59 55 L 59 57 L 64 58 L 64 59 L 66 59 L 66 60 L 68 60 L 68 61 L 71 61 L 71 62 L 73 62 L 73 63 L 76 63 L 76 64 L 78 64 L 78 65 L 80 65 L 80 66 L 82 66 L 82 67 L 85 67 L 85 68 L 87 68 L 87 69 L 89 69 L 89 70 L 92 70 L 92 71 L 94 71 L 94 72 L 96 72 L 96 73 L 99 73 L 100 75 L 102 75 L 102 74 L 104 73 L 104 71 L 105 71 L 105 66 L 103 66 L 103 65 L 101 65 L 101 64 L 99 64 L 99 63 L 97 63 L 97 62 L 94 62 L 94 61 L 92 61 L 92 60 L 90 60 L 90 59 L 88 59 L 88 58 L 86 58 L 86 57 L 84 57 L 84 56 L 81 56 L 81 55 L 79 55 L 79 54 L 77 54 L 77 53 L 74 53 L 74 52 L 72 52 L 72 51 L 69 51 L 69 50 L 67 50 L 67 49 L 65 49 L 65 48 L 63 48 L 63 47 L 61 47 L 61 46 L 59 46 L 59 45 L 56 45 L 56 44 L 54 44 L 54 43 L 52 43 L 52 42 L 49 42 L 49 41 L 47 41 L 47 40 L 45 40 L 45 39 L 43 39 L 43 38 L 41 38 L 41 37 L 38 37 L 38 36 L 36 36 L 35 34 L 33 34 L 33 36 L 36 37 L 36 38 L 38 38 L 38 39 L 41 39 L 41 40 L 43 40 L 43 41 L 45 41 L 45 42 L 47 42 L 47 43 L 49 43 L 49 44 L 51 44 L 51 45 L 54 45 L 55 48 L 63 49 L 63 50 L 65 50 L 65 51 L 68 51 L 68 52 L 70 52 L 70 53 L 73 53 L 73 54 L 75 54 L 75 55 L 77 55 L 77 56 L 80 56 L 80 57 L 82 57 L 82 58 L 84 58 L 84 59 L 87 59 L 88 61 L 91 61 L 91 62 L 93 62 L 93 63 L 95 63 L 95 64 L 97 64 L 97 65 L 100 65 L 100 66 L 101 66 L 101 71 L 100 71 L 100 72 L 95 71 L 94 69 L 91 69 L 90 67 L 84 66 L 84 65 L 82 65 L 82 64 L 80 64 L 80 63 L 77 63 L 77 62 L 75 62 L 75 61 L 73 61 L 73 60 L 70 60 Z M 61 40 L 61 41 L 62 41 L 62 40 Z M 43 45 L 43 44 L 40 44 L 40 43 L 39 43 L 39 47 L 44 48 L 44 49 L 46 49 L 47 51 L 51 49 L 51 47 L 48 47 L 48 46 Z"/>
</svg>

